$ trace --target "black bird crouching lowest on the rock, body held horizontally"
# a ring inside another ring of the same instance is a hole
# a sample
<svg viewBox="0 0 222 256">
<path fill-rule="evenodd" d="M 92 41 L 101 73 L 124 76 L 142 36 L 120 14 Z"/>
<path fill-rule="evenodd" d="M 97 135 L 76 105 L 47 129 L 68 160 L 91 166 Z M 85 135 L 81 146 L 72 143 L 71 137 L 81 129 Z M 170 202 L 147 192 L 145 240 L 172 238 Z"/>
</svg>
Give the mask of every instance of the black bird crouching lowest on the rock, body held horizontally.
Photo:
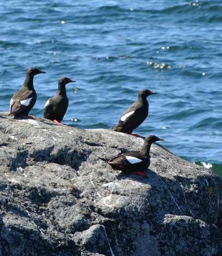
<svg viewBox="0 0 222 256">
<path fill-rule="evenodd" d="M 113 170 L 120 170 L 126 174 L 139 174 L 146 176 L 145 171 L 150 166 L 150 147 L 155 141 L 163 141 L 155 135 L 149 135 L 145 138 L 143 148 L 140 152 L 127 152 L 119 154 L 117 157 L 109 160 Z"/>
</svg>

